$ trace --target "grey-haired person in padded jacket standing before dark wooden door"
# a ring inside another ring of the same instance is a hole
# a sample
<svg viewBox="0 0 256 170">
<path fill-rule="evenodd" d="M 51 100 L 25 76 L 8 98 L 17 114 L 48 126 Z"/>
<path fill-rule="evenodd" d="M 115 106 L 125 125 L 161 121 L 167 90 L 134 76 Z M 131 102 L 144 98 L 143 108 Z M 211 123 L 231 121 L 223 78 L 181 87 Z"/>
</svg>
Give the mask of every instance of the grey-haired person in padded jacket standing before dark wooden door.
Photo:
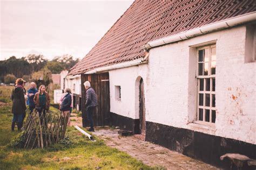
<svg viewBox="0 0 256 170">
<path fill-rule="evenodd" d="M 95 90 L 91 88 L 91 84 L 89 81 L 84 82 L 84 87 L 86 89 L 85 106 L 86 106 L 86 112 L 87 112 L 87 119 L 90 122 L 90 129 L 88 129 L 88 131 L 94 132 L 92 115 L 95 112 L 95 109 L 98 105 L 98 100 L 97 100 Z"/>
</svg>

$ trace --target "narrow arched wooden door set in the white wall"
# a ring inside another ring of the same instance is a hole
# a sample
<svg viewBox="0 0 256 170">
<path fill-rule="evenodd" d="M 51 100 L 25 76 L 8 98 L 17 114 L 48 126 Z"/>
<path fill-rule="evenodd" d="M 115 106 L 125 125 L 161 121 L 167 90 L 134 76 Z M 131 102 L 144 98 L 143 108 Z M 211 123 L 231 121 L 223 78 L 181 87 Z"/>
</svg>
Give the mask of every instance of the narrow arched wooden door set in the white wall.
<svg viewBox="0 0 256 170">
<path fill-rule="evenodd" d="M 146 108 L 145 108 L 145 95 L 144 95 L 144 82 L 140 79 L 139 83 L 139 128 L 140 133 L 146 134 L 146 118 L 145 118 Z"/>
</svg>

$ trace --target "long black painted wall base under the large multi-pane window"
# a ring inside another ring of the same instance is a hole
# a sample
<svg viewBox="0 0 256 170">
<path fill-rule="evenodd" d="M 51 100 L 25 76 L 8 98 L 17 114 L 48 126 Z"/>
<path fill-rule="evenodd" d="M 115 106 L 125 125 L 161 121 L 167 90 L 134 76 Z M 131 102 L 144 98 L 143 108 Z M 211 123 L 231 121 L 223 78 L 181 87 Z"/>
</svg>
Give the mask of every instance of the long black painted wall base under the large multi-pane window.
<svg viewBox="0 0 256 170">
<path fill-rule="evenodd" d="M 220 156 L 226 153 L 256 158 L 256 145 L 153 122 L 146 122 L 146 140 L 225 169 L 230 169 L 230 160 L 221 161 Z M 233 167 L 237 169 L 235 165 Z M 242 169 L 255 167 L 244 164 Z"/>
</svg>

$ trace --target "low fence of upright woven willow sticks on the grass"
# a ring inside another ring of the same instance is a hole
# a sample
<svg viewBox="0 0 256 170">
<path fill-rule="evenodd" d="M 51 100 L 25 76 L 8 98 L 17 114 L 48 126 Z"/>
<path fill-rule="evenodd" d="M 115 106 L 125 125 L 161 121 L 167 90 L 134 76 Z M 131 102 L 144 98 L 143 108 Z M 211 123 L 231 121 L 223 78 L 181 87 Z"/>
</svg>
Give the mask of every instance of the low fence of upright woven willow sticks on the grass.
<svg viewBox="0 0 256 170">
<path fill-rule="evenodd" d="M 32 112 L 24 124 L 24 148 L 43 148 L 65 137 L 69 115 Z"/>
</svg>

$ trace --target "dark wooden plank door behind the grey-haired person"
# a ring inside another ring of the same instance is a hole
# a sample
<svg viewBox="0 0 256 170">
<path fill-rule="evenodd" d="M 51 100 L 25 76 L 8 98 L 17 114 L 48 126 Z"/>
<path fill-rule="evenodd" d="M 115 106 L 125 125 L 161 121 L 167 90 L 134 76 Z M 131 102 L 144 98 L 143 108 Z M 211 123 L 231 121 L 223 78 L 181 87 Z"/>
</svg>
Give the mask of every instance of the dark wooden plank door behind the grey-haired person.
<svg viewBox="0 0 256 170">
<path fill-rule="evenodd" d="M 95 90 L 98 99 L 98 107 L 93 115 L 93 123 L 95 126 L 110 125 L 110 90 L 109 90 L 109 73 L 100 74 L 82 74 L 82 118 L 83 127 L 89 126 L 86 119 L 85 94 L 86 90 L 84 82 L 89 81 L 91 88 Z"/>
</svg>

